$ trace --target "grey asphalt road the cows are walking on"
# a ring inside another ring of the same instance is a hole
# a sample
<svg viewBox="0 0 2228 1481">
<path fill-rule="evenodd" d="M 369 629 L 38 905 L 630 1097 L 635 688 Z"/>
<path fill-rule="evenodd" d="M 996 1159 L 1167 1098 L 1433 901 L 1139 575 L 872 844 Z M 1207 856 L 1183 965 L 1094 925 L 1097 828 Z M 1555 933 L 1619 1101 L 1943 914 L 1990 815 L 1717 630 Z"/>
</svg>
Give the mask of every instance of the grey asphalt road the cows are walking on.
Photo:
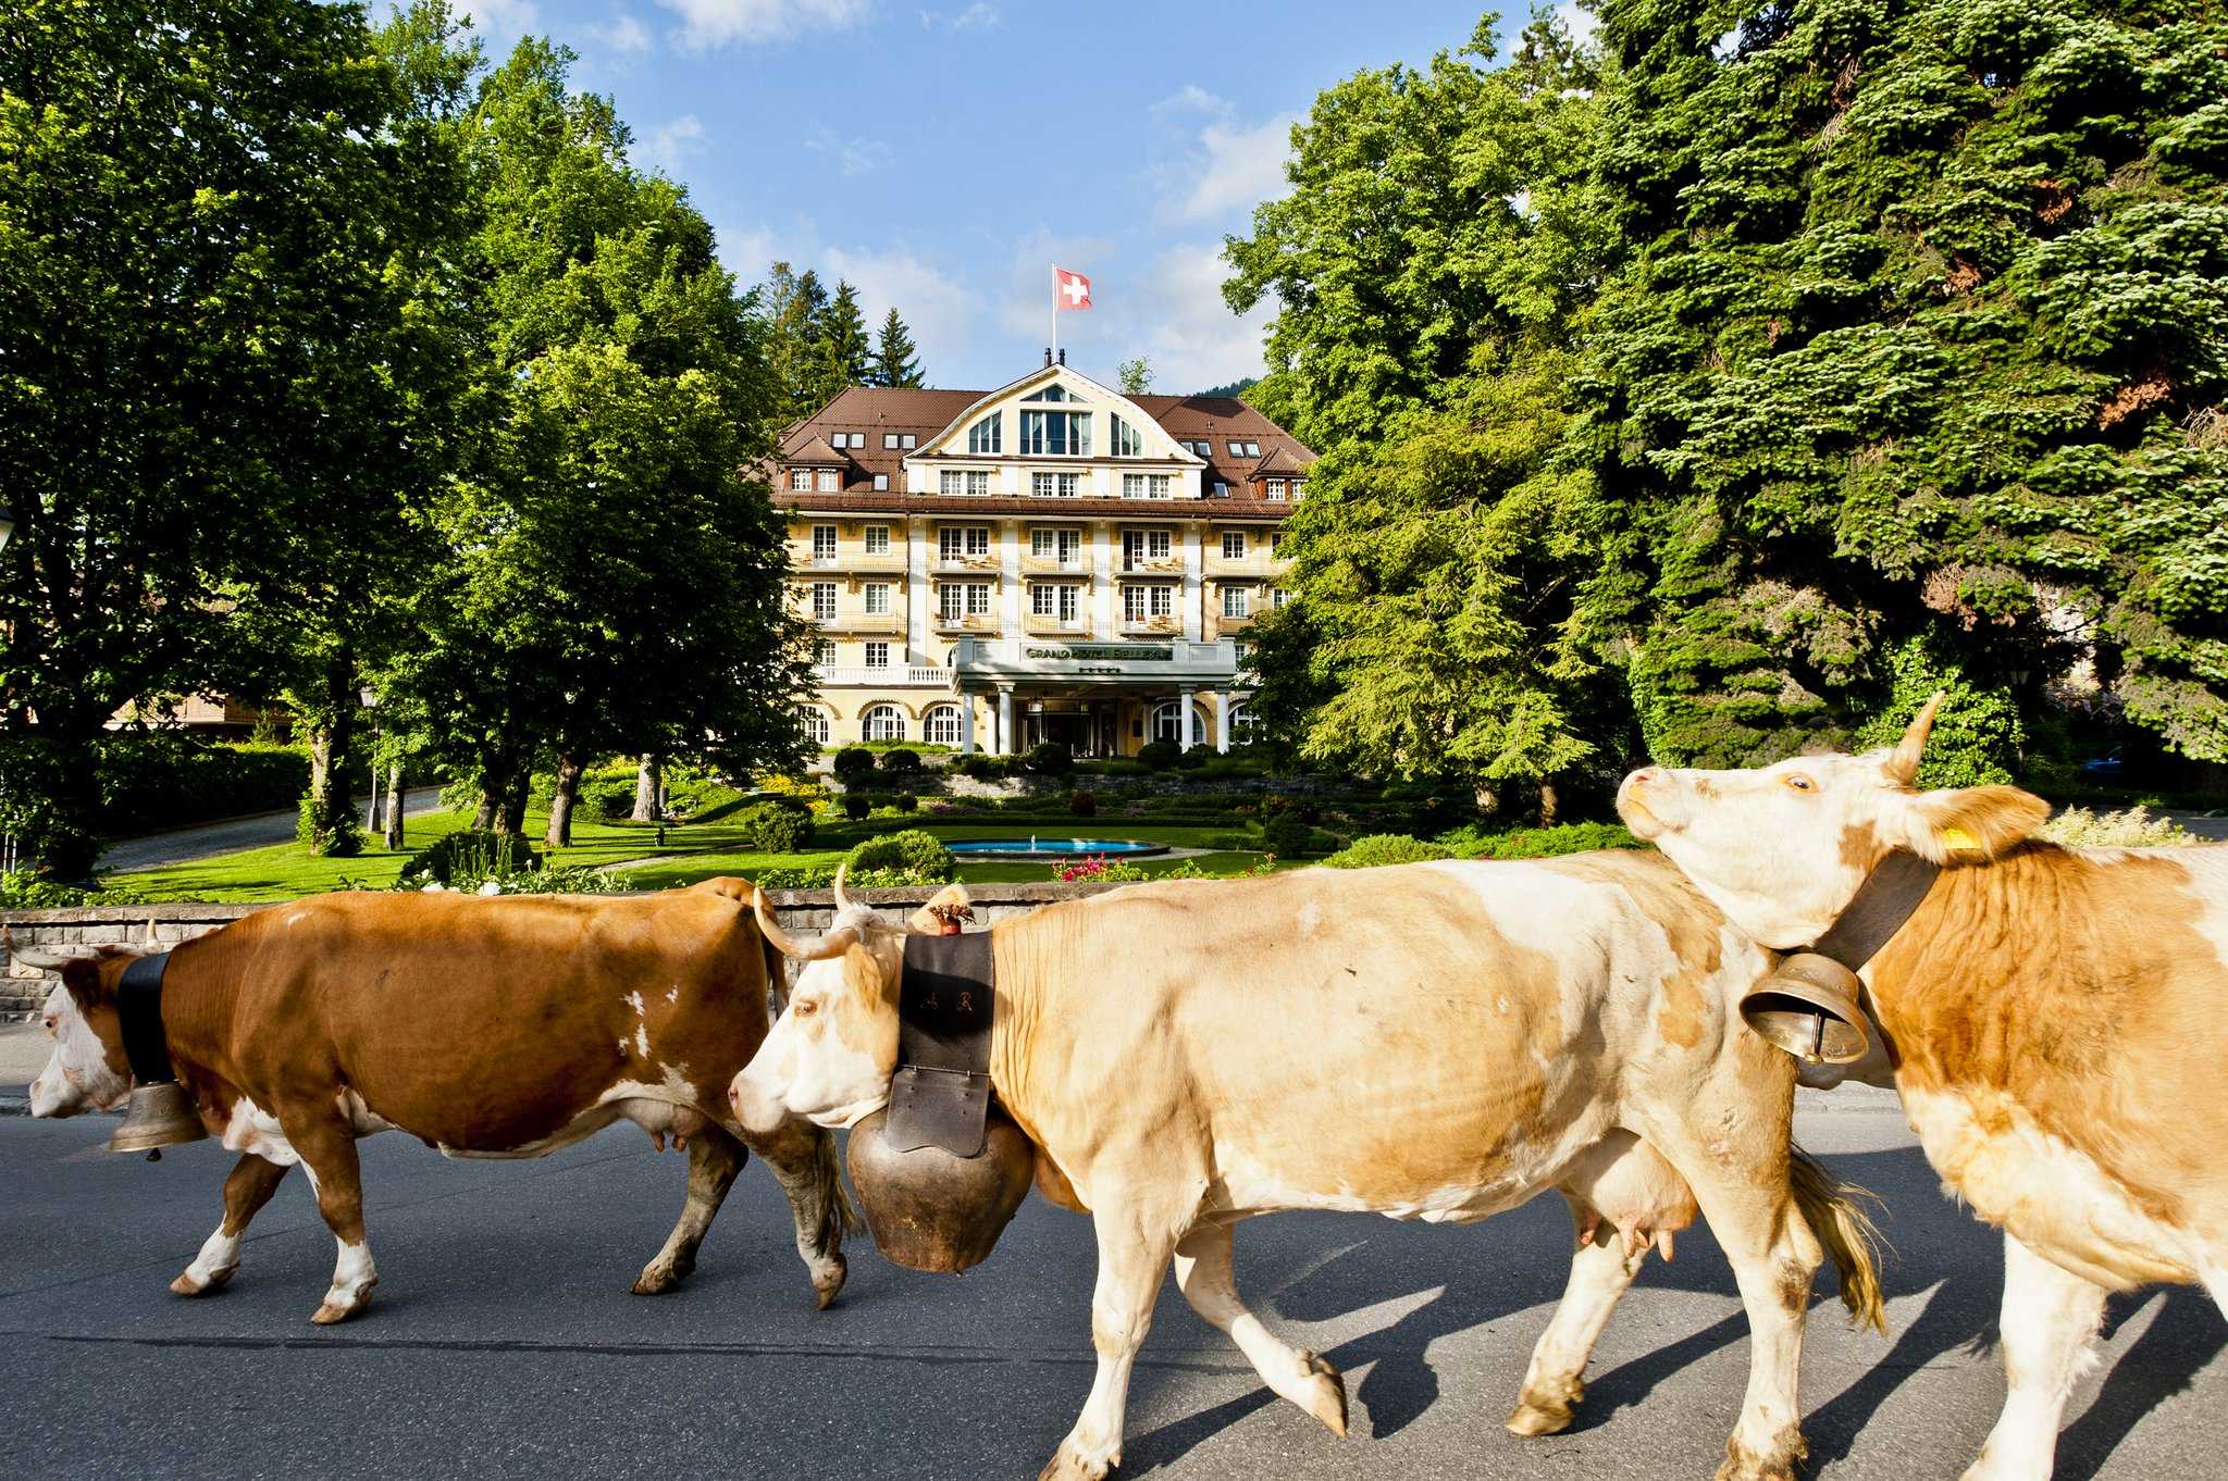
<svg viewBox="0 0 2228 1481">
<path fill-rule="evenodd" d="M 381 1285 L 307 1325 L 332 1240 L 294 1176 L 234 1283 L 167 1281 L 216 1223 L 229 1156 L 98 1149 L 107 1120 L 0 1118 L 0 1457 L 29 1477 L 1012 1477 L 1089 1387 L 1089 1223 L 1029 1203 L 967 1276 L 902 1272 L 860 1236 L 813 1312 L 786 1207 L 751 1169 L 675 1294 L 626 1294 L 684 1165 L 619 1127 L 541 1163 L 363 1145 Z M 1956 1477 L 2001 1401 L 2001 1254 L 1950 1205 L 1892 1107 L 1805 1111 L 1802 1140 L 1887 1198 L 1894 1332 L 1811 1314 L 1814 1477 Z M 1707 1236 L 1649 1263 L 1571 1434 L 1502 1430 L 1562 1289 L 1555 1198 L 1479 1227 L 1283 1216 L 1239 1232 L 1257 1310 L 1346 1370 L 1355 1439 L 1272 1401 L 1172 1285 L 1136 1370 L 1125 1477 L 1693 1479 L 1747 1372 Z M 2079 1387 L 2061 1481 L 2228 1474 L 2228 1325 L 2201 1296 L 2117 1298 Z"/>
</svg>

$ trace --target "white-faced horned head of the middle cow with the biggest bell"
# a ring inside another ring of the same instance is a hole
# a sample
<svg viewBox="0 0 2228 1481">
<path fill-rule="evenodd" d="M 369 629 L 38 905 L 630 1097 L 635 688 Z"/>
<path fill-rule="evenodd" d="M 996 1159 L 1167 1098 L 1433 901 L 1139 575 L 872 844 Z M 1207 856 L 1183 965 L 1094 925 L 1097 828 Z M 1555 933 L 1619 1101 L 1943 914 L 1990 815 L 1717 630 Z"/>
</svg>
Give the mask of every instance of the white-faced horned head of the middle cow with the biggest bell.
<svg viewBox="0 0 2228 1481">
<path fill-rule="evenodd" d="M 764 891 L 753 891 L 753 909 L 766 940 L 804 967 L 782 1016 L 729 1087 L 735 1116 L 749 1131 L 773 1131 L 791 1116 L 838 1129 L 873 1116 L 898 1071 L 905 938 L 956 931 L 969 913 L 967 891 L 947 884 L 896 924 L 853 904 L 838 871 L 836 920 L 815 942 L 789 940 Z"/>
</svg>

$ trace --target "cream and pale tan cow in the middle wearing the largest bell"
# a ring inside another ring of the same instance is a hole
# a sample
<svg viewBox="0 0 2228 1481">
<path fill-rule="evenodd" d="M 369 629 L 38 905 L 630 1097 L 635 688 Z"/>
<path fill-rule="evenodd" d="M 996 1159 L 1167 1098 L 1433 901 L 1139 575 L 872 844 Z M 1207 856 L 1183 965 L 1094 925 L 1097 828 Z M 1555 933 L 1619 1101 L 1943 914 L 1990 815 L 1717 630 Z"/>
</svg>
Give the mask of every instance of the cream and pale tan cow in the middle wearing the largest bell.
<svg viewBox="0 0 2228 1481">
<path fill-rule="evenodd" d="M 766 1042 L 735 1076 L 744 1127 L 851 1127 L 889 1100 L 907 931 L 840 889 Z M 1036 1187 L 1098 1240 L 1098 1374 L 1045 1481 L 1121 1463 L 1130 1363 L 1176 1283 L 1263 1383 L 1346 1432 L 1346 1385 L 1245 1307 L 1232 1225 L 1277 1209 L 1468 1223 L 1546 1189 L 1577 1254 L 1508 1428 L 1571 1423 L 1582 1372 L 1649 1245 L 1700 1205 L 1753 1334 L 1720 1481 L 1787 1481 L 1820 1238 L 1878 1318 L 1863 1214 L 1791 1149 L 1794 1067 L 1731 1004 L 1769 960 L 1640 853 L 1528 864 L 1165 880 L 991 929 L 989 1076 Z M 871 1209 L 869 1209 L 871 1212 Z"/>
</svg>

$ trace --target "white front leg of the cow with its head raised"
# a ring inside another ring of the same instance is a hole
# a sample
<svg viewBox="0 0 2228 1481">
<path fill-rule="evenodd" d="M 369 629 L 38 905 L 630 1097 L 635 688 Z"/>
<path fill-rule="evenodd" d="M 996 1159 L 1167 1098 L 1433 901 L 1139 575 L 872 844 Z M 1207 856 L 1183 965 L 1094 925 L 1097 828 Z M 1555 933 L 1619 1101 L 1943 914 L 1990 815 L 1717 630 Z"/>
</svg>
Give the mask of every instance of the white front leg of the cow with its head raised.
<svg viewBox="0 0 2228 1481">
<path fill-rule="evenodd" d="M 2103 1287 L 2003 1236 L 2003 1376 L 2010 1392 L 1965 1481 L 2050 1481 L 2065 1399 L 2094 1363 Z"/>
</svg>

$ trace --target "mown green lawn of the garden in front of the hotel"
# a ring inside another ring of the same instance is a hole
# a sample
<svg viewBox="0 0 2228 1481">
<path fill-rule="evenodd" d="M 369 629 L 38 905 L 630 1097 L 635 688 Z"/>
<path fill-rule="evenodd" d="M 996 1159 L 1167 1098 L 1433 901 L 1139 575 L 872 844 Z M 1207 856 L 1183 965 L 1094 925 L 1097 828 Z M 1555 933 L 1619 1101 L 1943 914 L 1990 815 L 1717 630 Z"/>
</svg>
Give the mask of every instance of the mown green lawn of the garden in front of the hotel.
<svg viewBox="0 0 2228 1481">
<path fill-rule="evenodd" d="M 145 900 L 212 900 L 212 902 L 261 902 L 294 900 L 336 889 L 388 889 L 401 877 L 412 853 L 432 840 L 470 822 L 466 813 L 428 813 L 412 817 L 403 851 L 365 849 L 352 860 L 323 860 L 303 851 L 301 844 L 270 844 L 267 849 L 243 849 L 189 864 L 167 864 L 163 869 L 138 869 L 107 877 L 109 889 L 131 891 Z M 541 835 L 548 820 L 541 813 L 526 817 L 528 833 Z M 802 853 L 760 853 L 749 846 L 742 826 L 729 817 L 702 824 L 668 824 L 664 846 L 657 844 L 657 828 L 633 822 L 584 822 L 573 824 L 573 846 L 548 855 L 559 869 L 615 866 L 628 860 L 657 860 L 619 871 L 628 889 L 673 889 L 711 880 L 715 875 L 751 875 L 773 864 L 836 864 L 864 837 L 896 828 L 925 828 L 945 842 L 960 837 L 1134 837 L 1176 849 L 1199 849 L 1210 837 L 1230 833 L 1230 826 L 1154 824 L 1143 817 L 1096 820 L 1096 817 L 1047 817 L 1029 822 L 989 822 L 967 817 L 876 817 L 871 822 L 822 824 L 811 849 Z M 1136 860 L 1147 873 L 1165 873 L 1183 860 Z M 1196 857 L 1208 873 L 1245 873 L 1261 862 L 1259 853 L 1216 851 Z M 1052 864 L 1040 860 L 1014 860 L 996 864 L 962 864 L 960 877 L 971 884 L 1012 884 L 1029 880 L 1052 880 Z"/>
</svg>

